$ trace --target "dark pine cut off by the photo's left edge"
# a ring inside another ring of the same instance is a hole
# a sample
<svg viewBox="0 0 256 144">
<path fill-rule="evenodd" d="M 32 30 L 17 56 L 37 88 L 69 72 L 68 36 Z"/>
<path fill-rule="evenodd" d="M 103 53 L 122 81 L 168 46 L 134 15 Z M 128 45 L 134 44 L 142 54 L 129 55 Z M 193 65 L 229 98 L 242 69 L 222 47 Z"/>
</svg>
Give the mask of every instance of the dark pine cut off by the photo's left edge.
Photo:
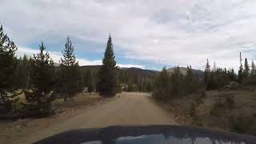
<svg viewBox="0 0 256 144">
<path fill-rule="evenodd" d="M 12 110 L 12 104 L 18 101 L 18 92 L 14 89 L 14 71 L 17 64 L 14 42 L 6 34 L 3 34 L 0 27 L 0 109 L 2 113 Z"/>
</svg>

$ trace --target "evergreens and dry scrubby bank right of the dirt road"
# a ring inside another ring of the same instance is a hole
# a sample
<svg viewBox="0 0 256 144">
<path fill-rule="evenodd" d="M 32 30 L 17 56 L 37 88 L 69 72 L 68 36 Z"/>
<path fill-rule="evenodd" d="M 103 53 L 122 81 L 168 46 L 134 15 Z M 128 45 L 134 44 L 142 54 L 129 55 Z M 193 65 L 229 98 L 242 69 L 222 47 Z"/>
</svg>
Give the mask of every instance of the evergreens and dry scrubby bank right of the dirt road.
<svg viewBox="0 0 256 144">
<path fill-rule="evenodd" d="M 207 59 L 204 78 L 191 72 L 181 74 L 177 66 L 172 73 L 164 67 L 156 80 L 153 96 L 175 114 L 182 125 L 229 130 L 256 135 L 256 70 L 247 58 L 238 74 L 234 69 L 211 69 Z"/>
</svg>

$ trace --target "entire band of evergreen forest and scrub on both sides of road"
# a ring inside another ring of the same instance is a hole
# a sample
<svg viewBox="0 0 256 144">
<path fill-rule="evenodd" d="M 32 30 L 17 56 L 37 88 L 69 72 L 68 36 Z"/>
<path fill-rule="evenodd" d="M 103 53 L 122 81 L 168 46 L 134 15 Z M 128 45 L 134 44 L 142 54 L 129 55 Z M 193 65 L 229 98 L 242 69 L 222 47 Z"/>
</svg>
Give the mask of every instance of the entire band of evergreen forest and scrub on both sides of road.
<svg viewBox="0 0 256 144">
<path fill-rule="evenodd" d="M 180 122 L 210 127 L 214 122 L 207 118 L 218 117 L 222 124 L 226 124 L 218 128 L 256 134 L 253 130 L 256 126 L 255 114 L 243 114 L 244 109 L 239 107 L 241 103 L 237 96 L 246 99 L 254 94 L 254 61 L 248 62 L 247 58 L 243 60 L 240 53 L 238 74 L 234 68 L 220 68 L 215 62 L 214 66 L 210 66 L 209 59 L 206 59 L 205 70 L 198 70 L 199 73 L 191 66 L 187 66 L 185 71 L 185 68 L 179 66 L 172 70 L 164 66 L 160 72 L 120 68 L 116 66 L 112 42 L 113 39 L 109 37 L 102 66 L 79 66 L 75 45 L 70 37 L 66 38 L 62 58 L 58 63 L 50 58 L 43 42 L 38 54 L 25 54 L 17 58 L 15 52 L 18 47 L 7 37 L 1 26 L 0 118 L 46 117 L 55 113 L 56 109 L 52 105 L 54 100 L 73 101 L 78 94 L 85 92 L 98 93 L 102 98 L 114 97 L 122 91 L 147 92 L 152 93 L 158 102 L 176 110 L 174 114 L 178 113 Z M 22 97 L 25 100 L 19 101 Z M 207 104 L 208 101 L 211 104 Z M 202 112 L 202 106 L 209 112 Z M 235 109 L 241 112 L 237 113 Z M 224 114 L 229 114 L 228 118 L 224 118 Z"/>
</svg>

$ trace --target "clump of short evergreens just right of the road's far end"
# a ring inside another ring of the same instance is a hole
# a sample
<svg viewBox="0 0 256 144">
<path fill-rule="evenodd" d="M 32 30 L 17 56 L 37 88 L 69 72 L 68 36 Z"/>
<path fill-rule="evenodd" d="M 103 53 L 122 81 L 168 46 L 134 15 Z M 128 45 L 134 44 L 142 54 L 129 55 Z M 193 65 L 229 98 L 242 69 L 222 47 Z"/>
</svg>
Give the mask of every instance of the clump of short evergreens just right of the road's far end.
<svg viewBox="0 0 256 144">
<path fill-rule="evenodd" d="M 153 96 L 167 102 L 174 98 L 197 93 L 201 90 L 201 86 L 201 82 L 194 75 L 191 66 L 187 67 L 185 76 L 178 66 L 174 68 L 171 74 L 164 67 L 155 81 Z"/>
</svg>

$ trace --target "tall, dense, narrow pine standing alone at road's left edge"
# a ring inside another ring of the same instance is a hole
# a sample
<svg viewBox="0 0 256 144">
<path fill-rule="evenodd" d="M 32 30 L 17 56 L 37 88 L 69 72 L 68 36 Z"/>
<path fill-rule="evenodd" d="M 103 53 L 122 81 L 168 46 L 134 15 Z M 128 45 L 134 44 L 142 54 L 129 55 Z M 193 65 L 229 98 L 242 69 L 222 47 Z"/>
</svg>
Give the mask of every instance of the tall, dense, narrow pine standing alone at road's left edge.
<svg viewBox="0 0 256 144">
<path fill-rule="evenodd" d="M 102 60 L 100 81 L 98 83 L 99 93 L 103 97 L 112 97 L 117 93 L 116 87 L 118 82 L 116 78 L 116 62 L 114 58 L 112 39 L 109 37 L 104 58 Z"/>
</svg>

